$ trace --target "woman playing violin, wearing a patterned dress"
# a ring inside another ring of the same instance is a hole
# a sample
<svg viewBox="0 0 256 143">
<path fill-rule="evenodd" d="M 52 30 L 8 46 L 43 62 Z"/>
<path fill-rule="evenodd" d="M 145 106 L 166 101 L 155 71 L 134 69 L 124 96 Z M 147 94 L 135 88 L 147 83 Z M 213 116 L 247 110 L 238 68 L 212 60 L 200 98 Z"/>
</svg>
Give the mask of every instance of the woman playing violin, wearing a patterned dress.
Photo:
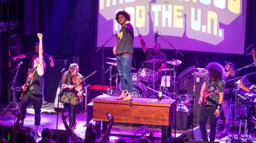
<svg viewBox="0 0 256 143">
<path fill-rule="evenodd" d="M 84 80 L 82 75 L 78 72 L 79 66 L 72 63 L 68 71 L 63 73 L 60 80 L 61 89 L 63 89 L 63 96 L 60 102 L 64 103 L 65 109 L 69 109 L 69 127 L 74 131 L 76 126 L 76 110 L 82 102 L 82 95 L 84 93 Z"/>
</svg>

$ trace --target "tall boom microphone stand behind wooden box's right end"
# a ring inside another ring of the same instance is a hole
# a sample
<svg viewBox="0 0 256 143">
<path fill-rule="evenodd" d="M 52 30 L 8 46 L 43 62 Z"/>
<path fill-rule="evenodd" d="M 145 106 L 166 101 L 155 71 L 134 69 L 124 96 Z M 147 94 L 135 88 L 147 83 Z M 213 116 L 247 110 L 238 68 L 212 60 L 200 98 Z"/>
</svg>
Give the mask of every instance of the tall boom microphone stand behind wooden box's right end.
<svg viewBox="0 0 256 143">
<path fill-rule="evenodd" d="M 157 34 L 157 33 L 156 33 Z M 179 53 L 182 57 L 184 57 L 183 54 L 180 53 L 179 50 L 176 49 L 176 47 L 172 46 L 170 42 L 165 40 L 160 34 L 157 34 L 163 41 L 167 42 L 174 50 L 175 50 L 175 68 L 174 68 L 174 99 L 175 99 L 175 123 L 174 123 L 174 137 L 176 137 L 176 116 L 177 116 L 177 53 Z"/>
</svg>

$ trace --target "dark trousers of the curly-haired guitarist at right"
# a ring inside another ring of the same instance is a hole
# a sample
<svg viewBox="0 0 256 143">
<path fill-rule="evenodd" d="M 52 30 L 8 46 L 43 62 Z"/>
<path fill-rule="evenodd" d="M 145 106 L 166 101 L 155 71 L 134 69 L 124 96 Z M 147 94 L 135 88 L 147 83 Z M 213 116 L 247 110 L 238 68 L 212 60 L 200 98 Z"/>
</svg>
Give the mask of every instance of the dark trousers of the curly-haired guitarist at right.
<svg viewBox="0 0 256 143">
<path fill-rule="evenodd" d="M 217 107 L 216 106 L 202 106 L 200 110 L 200 130 L 202 133 L 202 139 L 204 141 L 208 141 L 208 136 L 207 136 L 207 119 L 209 118 L 209 124 L 210 124 L 210 141 L 215 140 L 215 135 L 216 135 L 216 126 L 217 126 L 217 119 L 216 116 L 214 115 Z"/>
</svg>

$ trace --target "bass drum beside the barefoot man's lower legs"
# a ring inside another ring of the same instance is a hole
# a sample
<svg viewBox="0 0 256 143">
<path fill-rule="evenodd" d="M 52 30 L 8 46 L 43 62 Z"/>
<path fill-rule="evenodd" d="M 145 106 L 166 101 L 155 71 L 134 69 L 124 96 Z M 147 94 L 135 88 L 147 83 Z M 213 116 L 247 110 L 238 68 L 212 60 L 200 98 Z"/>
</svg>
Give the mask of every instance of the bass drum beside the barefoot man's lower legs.
<svg viewBox="0 0 256 143">
<path fill-rule="evenodd" d="M 122 85 L 119 83 L 119 91 L 122 92 Z M 148 98 L 147 86 L 141 82 L 133 84 L 133 97 L 135 98 Z"/>
</svg>

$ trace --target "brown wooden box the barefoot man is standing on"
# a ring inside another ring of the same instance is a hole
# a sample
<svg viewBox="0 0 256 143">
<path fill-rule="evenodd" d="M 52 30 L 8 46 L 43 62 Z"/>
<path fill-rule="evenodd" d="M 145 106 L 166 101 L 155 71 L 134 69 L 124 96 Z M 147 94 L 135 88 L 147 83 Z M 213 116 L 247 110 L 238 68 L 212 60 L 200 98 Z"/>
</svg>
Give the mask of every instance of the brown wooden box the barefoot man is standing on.
<svg viewBox="0 0 256 143">
<path fill-rule="evenodd" d="M 115 122 L 170 125 L 174 100 L 133 98 L 133 101 L 121 101 L 112 96 L 98 96 L 93 99 L 93 119 L 108 121 L 106 112 L 114 115 Z"/>
</svg>

